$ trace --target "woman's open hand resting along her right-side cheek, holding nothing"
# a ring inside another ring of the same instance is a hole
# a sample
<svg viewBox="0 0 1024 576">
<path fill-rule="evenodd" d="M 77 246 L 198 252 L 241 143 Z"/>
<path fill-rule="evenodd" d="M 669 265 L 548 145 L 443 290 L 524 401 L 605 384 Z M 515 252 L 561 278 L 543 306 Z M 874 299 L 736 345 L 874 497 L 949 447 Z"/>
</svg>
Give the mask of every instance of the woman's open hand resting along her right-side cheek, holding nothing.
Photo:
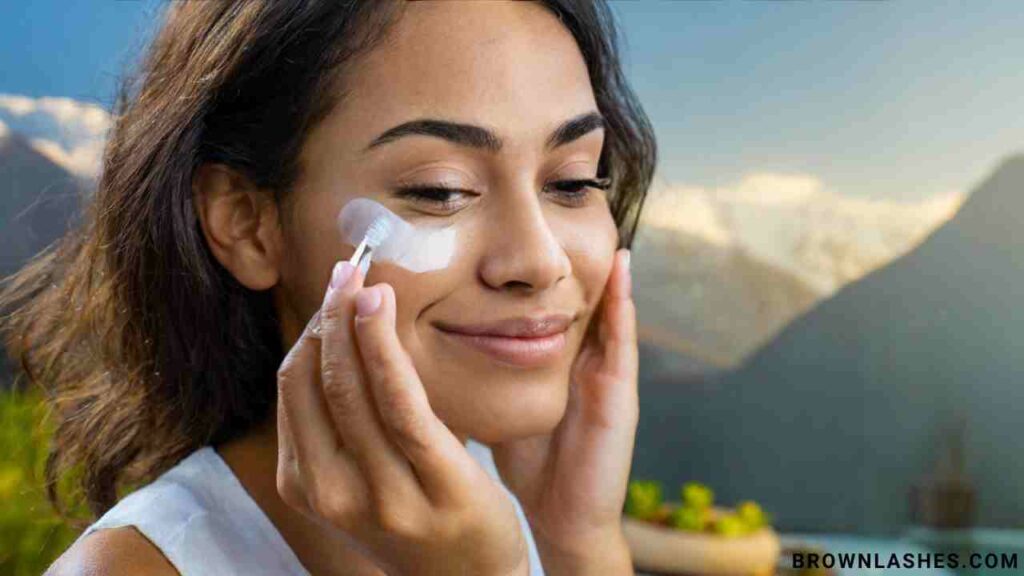
<svg viewBox="0 0 1024 576">
<path fill-rule="evenodd" d="M 549 573 L 633 574 L 622 513 L 640 415 L 629 251 L 618 250 L 572 367 L 565 416 L 550 435 L 492 446 Z M 613 566 L 614 567 L 613 567 Z M 591 567 L 581 570 L 579 567 Z"/>
</svg>

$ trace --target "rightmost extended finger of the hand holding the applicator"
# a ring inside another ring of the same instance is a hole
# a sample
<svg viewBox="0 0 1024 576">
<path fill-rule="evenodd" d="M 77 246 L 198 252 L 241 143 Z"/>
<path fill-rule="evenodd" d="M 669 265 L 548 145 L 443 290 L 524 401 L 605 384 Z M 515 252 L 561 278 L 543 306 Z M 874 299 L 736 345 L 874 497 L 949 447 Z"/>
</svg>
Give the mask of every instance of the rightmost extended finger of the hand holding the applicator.
<svg viewBox="0 0 1024 576">
<path fill-rule="evenodd" d="M 375 302 L 379 302 L 376 308 Z M 452 501 L 471 493 L 483 470 L 430 407 L 419 373 L 395 331 L 394 289 L 377 284 L 360 293 L 357 303 L 359 354 L 370 367 L 370 385 L 385 430 L 413 463 L 434 501 Z"/>
</svg>

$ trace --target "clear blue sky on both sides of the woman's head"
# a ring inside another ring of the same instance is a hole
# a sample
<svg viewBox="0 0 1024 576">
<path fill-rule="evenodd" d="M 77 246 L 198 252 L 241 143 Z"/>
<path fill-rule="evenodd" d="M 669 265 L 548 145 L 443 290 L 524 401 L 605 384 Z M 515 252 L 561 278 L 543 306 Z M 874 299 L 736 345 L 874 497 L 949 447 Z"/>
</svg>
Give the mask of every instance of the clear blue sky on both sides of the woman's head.
<svg viewBox="0 0 1024 576">
<path fill-rule="evenodd" d="M 1024 151 L 1017 0 L 611 2 L 659 176 L 729 186 L 810 174 L 843 194 L 967 192 Z M 0 9 L 0 92 L 109 106 L 155 0 Z"/>
</svg>

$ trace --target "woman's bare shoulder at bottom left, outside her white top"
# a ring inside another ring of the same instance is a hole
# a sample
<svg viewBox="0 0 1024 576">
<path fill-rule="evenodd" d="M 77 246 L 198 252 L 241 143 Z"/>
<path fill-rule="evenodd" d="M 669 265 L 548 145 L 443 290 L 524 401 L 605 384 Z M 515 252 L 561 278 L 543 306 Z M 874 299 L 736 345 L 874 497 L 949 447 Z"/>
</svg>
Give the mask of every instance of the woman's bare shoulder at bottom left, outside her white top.
<svg viewBox="0 0 1024 576">
<path fill-rule="evenodd" d="M 131 526 L 97 530 L 60 556 L 44 576 L 180 576 L 160 548 Z"/>
</svg>

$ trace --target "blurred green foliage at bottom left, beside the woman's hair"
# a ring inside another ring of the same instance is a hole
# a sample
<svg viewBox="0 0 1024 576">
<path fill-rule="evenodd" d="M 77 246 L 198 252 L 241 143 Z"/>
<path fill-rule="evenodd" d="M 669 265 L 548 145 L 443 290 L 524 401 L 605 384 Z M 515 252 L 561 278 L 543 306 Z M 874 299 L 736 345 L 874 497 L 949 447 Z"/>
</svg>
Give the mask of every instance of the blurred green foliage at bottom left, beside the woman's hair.
<svg viewBox="0 0 1024 576">
<path fill-rule="evenodd" d="M 40 394 L 0 388 L 0 574 L 42 574 L 79 534 L 46 499 L 43 471 L 51 434 Z M 61 488 L 70 484 L 62 482 Z M 84 505 L 71 511 L 86 517 Z"/>
</svg>

